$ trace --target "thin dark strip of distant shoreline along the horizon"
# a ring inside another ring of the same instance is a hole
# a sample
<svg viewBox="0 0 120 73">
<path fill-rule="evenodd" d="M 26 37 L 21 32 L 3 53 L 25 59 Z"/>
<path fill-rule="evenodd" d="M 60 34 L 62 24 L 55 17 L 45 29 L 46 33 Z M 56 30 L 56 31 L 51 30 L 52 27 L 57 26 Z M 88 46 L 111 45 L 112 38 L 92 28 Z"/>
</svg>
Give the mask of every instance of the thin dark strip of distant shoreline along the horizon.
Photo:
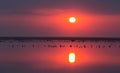
<svg viewBox="0 0 120 73">
<path fill-rule="evenodd" d="M 116 40 L 119 38 L 111 37 L 0 37 L 0 40 Z"/>
</svg>

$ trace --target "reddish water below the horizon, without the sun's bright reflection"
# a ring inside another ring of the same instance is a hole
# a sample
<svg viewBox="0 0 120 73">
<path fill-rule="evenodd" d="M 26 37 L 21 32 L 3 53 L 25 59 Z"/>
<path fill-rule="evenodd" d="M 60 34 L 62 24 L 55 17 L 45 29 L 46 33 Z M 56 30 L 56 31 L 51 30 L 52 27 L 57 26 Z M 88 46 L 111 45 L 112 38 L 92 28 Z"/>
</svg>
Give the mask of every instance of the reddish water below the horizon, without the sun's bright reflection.
<svg viewBox="0 0 120 73">
<path fill-rule="evenodd" d="M 120 73 L 120 39 L 1 37 L 0 73 Z"/>
</svg>

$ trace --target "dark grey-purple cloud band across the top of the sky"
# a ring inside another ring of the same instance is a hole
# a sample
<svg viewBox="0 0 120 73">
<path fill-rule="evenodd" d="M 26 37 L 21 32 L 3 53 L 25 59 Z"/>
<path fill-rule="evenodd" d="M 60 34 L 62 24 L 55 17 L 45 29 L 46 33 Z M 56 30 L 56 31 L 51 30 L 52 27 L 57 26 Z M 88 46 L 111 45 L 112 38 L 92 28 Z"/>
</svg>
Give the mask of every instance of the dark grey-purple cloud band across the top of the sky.
<svg viewBox="0 0 120 73">
<path fill-rule="evenodd" d="M 120 14 L 119 3 L 120 0 L 1 0 L 0 10 L 12 10 L 13 13 L 27 14 L 29 12 L 24 12 L 26 9 L 75 8 L 99 14 Z"/>
</svg>

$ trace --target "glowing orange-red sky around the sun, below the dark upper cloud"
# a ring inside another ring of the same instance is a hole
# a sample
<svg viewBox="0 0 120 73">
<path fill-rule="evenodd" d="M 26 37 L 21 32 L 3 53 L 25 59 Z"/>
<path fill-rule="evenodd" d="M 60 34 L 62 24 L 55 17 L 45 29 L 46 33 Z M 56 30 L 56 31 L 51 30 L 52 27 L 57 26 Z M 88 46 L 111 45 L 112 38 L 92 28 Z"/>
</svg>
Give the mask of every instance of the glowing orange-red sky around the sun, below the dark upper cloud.
<svg viewBox="0 0 120 73">
<path fill-rule="evenodd" d="M 44 13 L 45 15 L 1 15 L 1 26 L 8 30 L 13 28 L 9 31 L 10 34 L 13 30 L 19 29 L 17 26 L 23 29 L 17 30 L 18 33 L 13 32 L 13 36 L 119 36 L 116 32 L 119 31 L 120 15 L 93 14 L 69 9 L 51 9 L 49 11 L 47 9 L 36 9 L 32 12 Z M 74 25 L 69 23 L 69 17 L 71 16 L 77 19 Z M 7 26 L 10 27 L 7 28 Z M 28 34 L 29 31 L 33 33 Z M 41 34 L 41 31 L 44 31 L 45 34 Z M 7 35 L 6 32 L 4 35 Z"/>
</svg>

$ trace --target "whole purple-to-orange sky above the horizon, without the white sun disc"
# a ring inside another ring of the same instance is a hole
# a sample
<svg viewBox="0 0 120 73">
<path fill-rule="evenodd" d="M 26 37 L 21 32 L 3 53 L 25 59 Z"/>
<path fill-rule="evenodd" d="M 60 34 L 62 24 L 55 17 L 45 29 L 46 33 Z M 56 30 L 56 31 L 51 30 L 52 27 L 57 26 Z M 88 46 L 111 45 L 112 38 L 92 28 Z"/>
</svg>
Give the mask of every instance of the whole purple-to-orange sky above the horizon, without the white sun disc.
<svg viewBox="0 0 120 73">
<path fill-rule="evenodd" d="M 120 37 L 119 0 L 0 0 L 0 36 Z M 68 18 L 74 16 L 75 24 Z"/>
</svg>

